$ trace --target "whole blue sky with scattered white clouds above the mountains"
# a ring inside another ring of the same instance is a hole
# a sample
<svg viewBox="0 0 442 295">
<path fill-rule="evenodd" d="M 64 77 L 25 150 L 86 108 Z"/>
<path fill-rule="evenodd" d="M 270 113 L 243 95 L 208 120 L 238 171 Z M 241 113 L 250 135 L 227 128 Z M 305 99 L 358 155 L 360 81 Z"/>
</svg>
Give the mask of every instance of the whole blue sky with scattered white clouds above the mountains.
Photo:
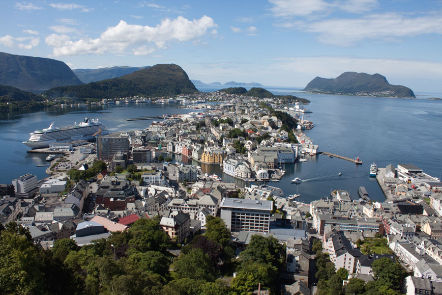
<svg viewBox="0 0 442 295">
<path fill-rule="evenodd" d="M 174 63 L 203 83 L 379 73 L 442 92 L 441 0 L 4 1 L 0 51 L 72 69 Z"/>
</svg>

